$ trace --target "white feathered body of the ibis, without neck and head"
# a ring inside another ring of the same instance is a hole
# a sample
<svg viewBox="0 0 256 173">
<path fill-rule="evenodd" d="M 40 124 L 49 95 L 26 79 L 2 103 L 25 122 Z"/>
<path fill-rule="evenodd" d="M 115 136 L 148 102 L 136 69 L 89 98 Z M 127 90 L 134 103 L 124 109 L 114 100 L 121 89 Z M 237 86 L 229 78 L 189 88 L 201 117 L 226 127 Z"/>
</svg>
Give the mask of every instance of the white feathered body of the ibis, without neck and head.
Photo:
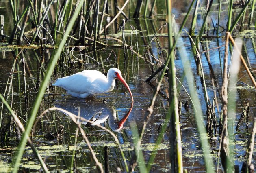
<svg viewBox="0 0 256 173">
<path fill-rule="evenodd" d="M 94 95 L 98 94 L 104 83 L 107 83 L 107 78 L 101 72 L 97 70 L 84 70 L 71 76 L 59 78 L 54 85 L 78 94 L 91 93 Z"/>
</svg>

